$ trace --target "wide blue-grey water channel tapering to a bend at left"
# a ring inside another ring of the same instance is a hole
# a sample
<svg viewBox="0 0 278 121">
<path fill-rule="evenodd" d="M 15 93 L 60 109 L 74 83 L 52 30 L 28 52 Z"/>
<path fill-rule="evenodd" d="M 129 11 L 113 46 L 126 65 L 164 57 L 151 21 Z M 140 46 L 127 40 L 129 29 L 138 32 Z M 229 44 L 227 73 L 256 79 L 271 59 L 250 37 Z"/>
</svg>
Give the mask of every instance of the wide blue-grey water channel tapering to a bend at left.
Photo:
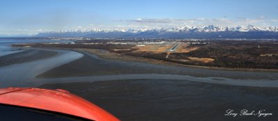
<svg viewBox="0 0 278 121">
<path fill-rule="evenodd" d="M 49 50 L 58 53 L 57 55 L 47 57 L 44 59 L 36 59 L 21 64 L 11 64 L 8 66 L 0 67 L 0 85 L 1 87 L 20 82 L 26 82 L 33 80 L 37 75 L 51 70 L 52 68 L 67 64 L 76 59 L 83 57 L 83 54 L 76 53 L 68 50 L 51 50 L 51 49 L 40 49 Z M 20 80 L 16 82 L 15 80 Z"/>
</svg>

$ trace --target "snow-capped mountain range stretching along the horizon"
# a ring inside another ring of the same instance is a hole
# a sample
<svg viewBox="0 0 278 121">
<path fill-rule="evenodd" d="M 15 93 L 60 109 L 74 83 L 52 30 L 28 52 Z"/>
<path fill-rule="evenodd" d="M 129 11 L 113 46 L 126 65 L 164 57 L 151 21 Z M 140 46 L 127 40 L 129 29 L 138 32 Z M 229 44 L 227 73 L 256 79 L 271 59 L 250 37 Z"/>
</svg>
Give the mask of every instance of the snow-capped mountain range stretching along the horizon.
<svg viewBox="0 0 278 121">
<path fill-rule="evenodd" d="M 129 28 L 60 30 L 42 32 L 38 37 L 165 37 L 165 38 L 271 38 L 278 39 L 278 27 L 259 28 L 256 26 L 182 26 L 177 28 Z"/>
</svg>

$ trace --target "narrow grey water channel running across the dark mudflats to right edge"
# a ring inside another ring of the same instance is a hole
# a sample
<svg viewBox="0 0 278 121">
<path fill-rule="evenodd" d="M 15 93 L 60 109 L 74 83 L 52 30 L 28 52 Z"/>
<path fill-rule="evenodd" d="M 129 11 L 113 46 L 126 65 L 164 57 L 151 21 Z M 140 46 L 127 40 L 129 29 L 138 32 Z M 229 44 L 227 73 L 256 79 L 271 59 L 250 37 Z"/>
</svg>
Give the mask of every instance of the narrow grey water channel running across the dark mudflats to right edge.
<svg viewBox="0 0 278 121">
<path fill-rule="evenodd" d="M 180 80 L 188 82 L 197 82 L 204 84 L 218 84 L 228 86 L 246 86 L 261 88 L 277 88 L 278 80 L 236 80 L 225 77 L 194 77 L 190 75 L 172 75 L 157 73 L 141 74 L 119 74 L 119 75 L 92 75 L 81 77 L 56 77 L 56 78 L 38 78 L 36 86 L 42 84 L 67 84 L 79 82 L 106 82 L 118 80 Z"/>
</svg>

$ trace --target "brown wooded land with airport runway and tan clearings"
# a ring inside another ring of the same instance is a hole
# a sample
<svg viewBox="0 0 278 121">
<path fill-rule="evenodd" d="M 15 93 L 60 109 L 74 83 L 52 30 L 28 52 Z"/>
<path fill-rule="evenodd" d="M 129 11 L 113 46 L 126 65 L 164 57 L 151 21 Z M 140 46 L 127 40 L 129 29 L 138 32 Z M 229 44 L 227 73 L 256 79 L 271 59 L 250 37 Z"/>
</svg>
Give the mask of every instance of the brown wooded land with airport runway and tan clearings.
<svg viewBox="0 0 278 121">
<path fill-rule="evenodd" d="M 165 41 L 162 44 L 18 44 L 39 48 L 108 50 L 120 56 L 143 57 L 194 66 L 278 69 L 275 41 Z M 132 58 L 132 57 L 129 57 Z"/>
</svg>

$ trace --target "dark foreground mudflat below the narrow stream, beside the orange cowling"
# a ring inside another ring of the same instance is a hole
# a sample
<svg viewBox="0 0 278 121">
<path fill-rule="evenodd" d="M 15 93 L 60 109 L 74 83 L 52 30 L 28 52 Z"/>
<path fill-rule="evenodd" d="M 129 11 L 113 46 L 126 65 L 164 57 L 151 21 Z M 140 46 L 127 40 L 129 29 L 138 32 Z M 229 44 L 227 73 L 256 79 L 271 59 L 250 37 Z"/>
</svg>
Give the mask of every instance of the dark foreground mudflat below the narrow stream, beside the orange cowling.
<svg viewBox="0 0 278 121">
<path fill-rule="evenodd" d="M 44 84 L 94 102 L 121 120 L 277 120 L 278 89 L 186 80 L 113 80 Z M 232 109 L 236 117 L 227 114 Z M 241 115 L 265 110 L 263 117 Z"/>
</svg>

